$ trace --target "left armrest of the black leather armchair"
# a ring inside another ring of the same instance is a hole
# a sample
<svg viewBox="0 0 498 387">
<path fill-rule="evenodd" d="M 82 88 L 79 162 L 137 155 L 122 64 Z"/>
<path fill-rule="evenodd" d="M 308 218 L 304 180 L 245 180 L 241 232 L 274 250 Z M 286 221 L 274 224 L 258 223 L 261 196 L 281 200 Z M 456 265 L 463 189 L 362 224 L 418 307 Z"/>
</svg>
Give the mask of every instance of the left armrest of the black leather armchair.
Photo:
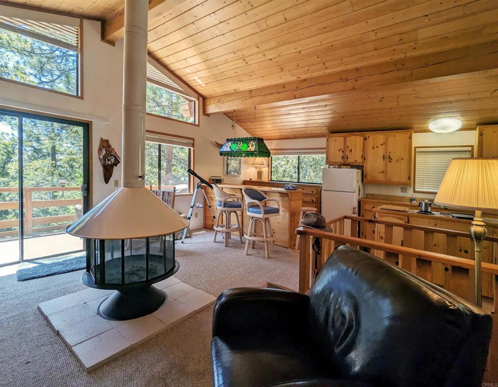
<svg viewBox="0 0 498 387">
<path fill-rule="evenodd" d="M 281 289 L 226 290 L 216 300 L 213 337 L 250 332 L 272 335 L 304 329 L 308 305 L 308 296 Z"/>
</svg>

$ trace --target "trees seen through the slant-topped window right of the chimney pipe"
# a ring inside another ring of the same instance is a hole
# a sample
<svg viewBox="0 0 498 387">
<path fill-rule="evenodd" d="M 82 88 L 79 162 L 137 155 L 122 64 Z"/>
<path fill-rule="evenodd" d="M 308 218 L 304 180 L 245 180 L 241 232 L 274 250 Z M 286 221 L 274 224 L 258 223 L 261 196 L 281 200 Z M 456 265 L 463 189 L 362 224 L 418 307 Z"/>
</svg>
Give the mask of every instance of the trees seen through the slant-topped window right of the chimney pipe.
<svg viewBox="0 0 498 387">
<path fill-rule="evenodd" d="M 194 117 L 185 117 L 182 107 L 186 108 L 189 101 L 162 87 L 147 82 L 147 113 L 174 118 L 175 120 L 194 122 Z"/>
</svg>

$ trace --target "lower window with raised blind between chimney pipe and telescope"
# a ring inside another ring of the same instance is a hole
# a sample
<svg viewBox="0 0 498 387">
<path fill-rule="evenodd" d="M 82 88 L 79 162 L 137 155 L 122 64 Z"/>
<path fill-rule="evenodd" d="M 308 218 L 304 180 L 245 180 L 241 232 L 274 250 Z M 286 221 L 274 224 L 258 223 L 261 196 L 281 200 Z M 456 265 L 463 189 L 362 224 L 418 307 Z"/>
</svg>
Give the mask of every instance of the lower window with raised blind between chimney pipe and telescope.
<svg viewBox="0 0 498 387">
<path fill-rule="evenodd" d="M 189 193 L 187 170 L 193 143 L 189 139 L 151 133 L 147 133 L 146 139 L 145 185 L 158 189 L 174 186 L 176 193 Z"/>
</svg>

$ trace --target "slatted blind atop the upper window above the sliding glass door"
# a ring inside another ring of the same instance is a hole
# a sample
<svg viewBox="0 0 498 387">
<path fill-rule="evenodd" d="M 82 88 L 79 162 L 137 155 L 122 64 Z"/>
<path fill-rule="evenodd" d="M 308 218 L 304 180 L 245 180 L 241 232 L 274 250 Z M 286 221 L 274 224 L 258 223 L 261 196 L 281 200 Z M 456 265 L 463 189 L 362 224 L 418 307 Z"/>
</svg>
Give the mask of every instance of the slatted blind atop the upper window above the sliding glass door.
<svg viewBox="0 0 498 387">
<path fill-rule="evenodd" d="M 0 16 L 0 28 L 78 52 L 79 27 Z"/>
</svg>

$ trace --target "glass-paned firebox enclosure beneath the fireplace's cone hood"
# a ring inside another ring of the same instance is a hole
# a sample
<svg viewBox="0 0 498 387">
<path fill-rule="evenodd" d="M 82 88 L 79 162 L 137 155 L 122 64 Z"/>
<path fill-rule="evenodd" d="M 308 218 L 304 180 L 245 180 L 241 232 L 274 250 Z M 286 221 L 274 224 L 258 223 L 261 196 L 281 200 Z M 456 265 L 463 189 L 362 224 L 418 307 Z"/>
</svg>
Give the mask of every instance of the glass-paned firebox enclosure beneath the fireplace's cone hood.
<svg viewBox="0 0 498 387">
<path fill-rule="evenodd" d="M 90 286 L 115 288 L 116 285 L 154 283 L 169 277 L 175 267 L 174 234 L 93 239 L 92 242 L 84 281 L 93 282 L 88 283 Z"/>
</svg>

